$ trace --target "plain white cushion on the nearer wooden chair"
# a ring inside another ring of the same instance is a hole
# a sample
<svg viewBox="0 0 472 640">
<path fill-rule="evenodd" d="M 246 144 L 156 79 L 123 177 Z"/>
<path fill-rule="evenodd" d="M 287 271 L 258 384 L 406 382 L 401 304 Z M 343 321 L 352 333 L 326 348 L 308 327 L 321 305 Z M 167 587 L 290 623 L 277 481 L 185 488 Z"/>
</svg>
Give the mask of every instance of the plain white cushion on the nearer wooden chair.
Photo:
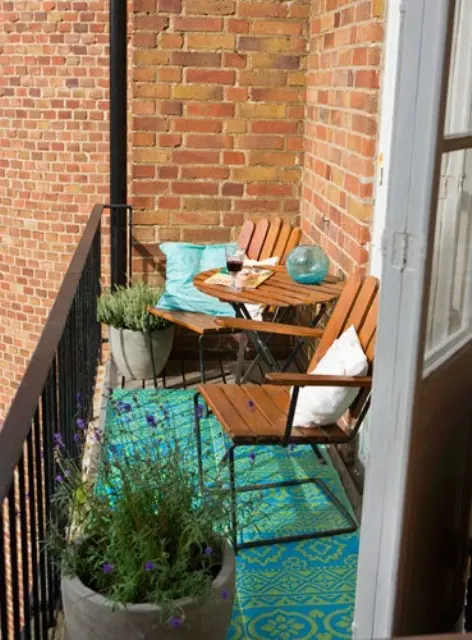
<svg viewBox="0 0 472 640">
<path fill-rule="evenodd" d="M 313 371 L 331 376 L 366 375 L 369 362 L 354 326 L 333 342 Z M 293 419 L 294 427 L 333 424 L 356 399 L 359 387 L 302 387 Z"/>
</svg>

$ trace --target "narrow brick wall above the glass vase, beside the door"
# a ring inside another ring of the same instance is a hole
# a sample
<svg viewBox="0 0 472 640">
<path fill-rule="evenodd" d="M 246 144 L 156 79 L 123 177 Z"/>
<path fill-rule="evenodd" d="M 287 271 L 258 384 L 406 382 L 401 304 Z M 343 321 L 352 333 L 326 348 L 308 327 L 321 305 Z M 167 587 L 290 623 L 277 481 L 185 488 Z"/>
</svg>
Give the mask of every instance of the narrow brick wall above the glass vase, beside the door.
<svg viewBox="0 0 472 640">
<path fill-rule="evenodd" d="M 303 230 L 351 273 L 369 259 L 384 0 L 312 0 L 311 11 Z"/>
</svg>

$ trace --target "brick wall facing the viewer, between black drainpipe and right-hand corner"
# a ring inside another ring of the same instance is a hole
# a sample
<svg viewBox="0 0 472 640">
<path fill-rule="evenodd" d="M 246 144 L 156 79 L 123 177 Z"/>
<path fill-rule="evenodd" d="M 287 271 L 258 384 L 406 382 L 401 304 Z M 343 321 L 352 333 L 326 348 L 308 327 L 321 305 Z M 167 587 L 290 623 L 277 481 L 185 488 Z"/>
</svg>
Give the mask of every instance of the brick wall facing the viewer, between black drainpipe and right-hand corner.
<svg viewBox="0 0 472 640">
<path fill-rule="evenodd" d="M 310 0 L 134 0 L 137 272 L 164 240 L 299 214 Z"/>
</svg>

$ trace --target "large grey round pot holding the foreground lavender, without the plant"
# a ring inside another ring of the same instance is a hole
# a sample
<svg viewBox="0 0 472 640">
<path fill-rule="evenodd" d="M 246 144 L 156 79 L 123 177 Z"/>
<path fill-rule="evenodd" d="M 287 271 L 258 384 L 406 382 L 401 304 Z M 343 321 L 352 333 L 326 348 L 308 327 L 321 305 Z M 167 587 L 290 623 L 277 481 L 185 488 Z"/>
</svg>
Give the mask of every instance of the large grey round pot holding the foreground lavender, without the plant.
<svg viewBox="0 0 472 640">
<path fill-rule="evenodd" d="M 213 581 L 213 596 L 204 602 L 181 598 L 184 621 L 173 629 L 161 620 L 160 607 L 132 604 L 112 608 L 103 596 L 78 578 L 62 578 L 62 603 L 69 640 L 226 640 L 235 593 L 235 560 L 225 543 L 223 566 Z M 223 596 L 223 597 L 222 597 Z"/>
</svg>

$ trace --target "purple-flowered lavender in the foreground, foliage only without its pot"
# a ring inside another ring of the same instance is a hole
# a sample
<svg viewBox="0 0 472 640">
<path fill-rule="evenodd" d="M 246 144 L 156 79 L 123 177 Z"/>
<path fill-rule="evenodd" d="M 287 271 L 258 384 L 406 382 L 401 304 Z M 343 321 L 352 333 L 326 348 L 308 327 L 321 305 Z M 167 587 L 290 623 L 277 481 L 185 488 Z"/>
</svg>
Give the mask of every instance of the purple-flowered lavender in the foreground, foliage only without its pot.
<svg viewBox="0 0 472 640">
<path fill-rule="evenodd" d="M 54 511 L 61 526 L 52 529 L 50 545 L 65 576 L 77 576 L 114 605 L 159 605 L 175 627 L 181 621 L 175 601 L 209 597 L 221 568 L 228 489 L 216 478 L 201 495 L 193 440 L 178 437 L 178 420 L 167 403 L 141 413 L 137 424 L 137 397 L 115 401 L 110 392 L 109 401 L 119 429 L 113 442 L 107 434 L 102 438 L 95 483 L 66 455 L 60 434 L 54 436 Z M 143 418 L 148 439 L 142 437 Z M 76 424 L 81 447 L 83 420 L 77 417 Z"/>
</svg>

